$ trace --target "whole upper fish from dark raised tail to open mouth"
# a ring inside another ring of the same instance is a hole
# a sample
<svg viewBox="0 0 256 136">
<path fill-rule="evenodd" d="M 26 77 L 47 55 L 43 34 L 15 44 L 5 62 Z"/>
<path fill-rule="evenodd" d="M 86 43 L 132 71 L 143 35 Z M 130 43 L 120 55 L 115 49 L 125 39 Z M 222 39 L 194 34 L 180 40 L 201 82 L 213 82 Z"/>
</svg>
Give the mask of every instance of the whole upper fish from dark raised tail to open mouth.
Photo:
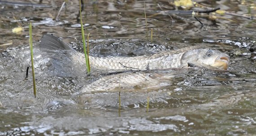
<svg viewBox="0 0 256 136">
<path fill-rule="evenodd" d="M 40 49 L 45 52 L 66 50 L 72 60 L 85 63 L 84 55 L 75 51 L 60 38 L 45 34 L 40 43 Z M 160 70 L 169 68 L 187 68 L 188 64 L 195 66 L 227 70 L 230 58 L 219 50 L 207 46 L 190 46 L 177 50 L 166 50 L 156 54 L 135 57 L 95 57 L 89 56 L 90 64 L 102 70 Z"/>
</svg>

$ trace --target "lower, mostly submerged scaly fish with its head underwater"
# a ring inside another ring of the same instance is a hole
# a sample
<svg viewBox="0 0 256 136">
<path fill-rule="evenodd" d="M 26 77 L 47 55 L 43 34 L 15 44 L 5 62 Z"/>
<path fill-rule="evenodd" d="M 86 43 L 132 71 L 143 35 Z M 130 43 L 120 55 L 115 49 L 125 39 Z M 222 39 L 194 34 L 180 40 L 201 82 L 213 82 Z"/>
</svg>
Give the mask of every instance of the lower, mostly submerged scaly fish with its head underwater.
<svg viewBox="0 0 256 136">
<path fill-rule="evenodd" d="M 145 70 L 110 74 L 85 85 L 80 92 L 91 91 L 150 91 L 171 85 L 173 78 L 185 76 L 186 71 Z M 80 93 L 79 92 L 79 93 Z"/>
</svg>

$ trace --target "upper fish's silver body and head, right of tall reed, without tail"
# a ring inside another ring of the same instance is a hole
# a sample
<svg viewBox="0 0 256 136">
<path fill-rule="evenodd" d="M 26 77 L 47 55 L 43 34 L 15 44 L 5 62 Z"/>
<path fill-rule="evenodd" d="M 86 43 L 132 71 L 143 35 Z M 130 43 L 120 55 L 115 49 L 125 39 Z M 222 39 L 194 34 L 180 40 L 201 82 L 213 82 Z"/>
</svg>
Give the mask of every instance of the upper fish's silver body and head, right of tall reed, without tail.
<svg viewBox="0 0 256 136">
<path fill-rule="evenodd" d="M 190 46 L 177 50 L 161 51 L 148 56 L 136 57 L 90 57 L 93 67 L 105 70 L 161 70 L 185 68 L 188 63 L 197 66 L 213 66 L 227 70 L 230 58 L 227 54 L 207 46 Z"/>
</svg>

